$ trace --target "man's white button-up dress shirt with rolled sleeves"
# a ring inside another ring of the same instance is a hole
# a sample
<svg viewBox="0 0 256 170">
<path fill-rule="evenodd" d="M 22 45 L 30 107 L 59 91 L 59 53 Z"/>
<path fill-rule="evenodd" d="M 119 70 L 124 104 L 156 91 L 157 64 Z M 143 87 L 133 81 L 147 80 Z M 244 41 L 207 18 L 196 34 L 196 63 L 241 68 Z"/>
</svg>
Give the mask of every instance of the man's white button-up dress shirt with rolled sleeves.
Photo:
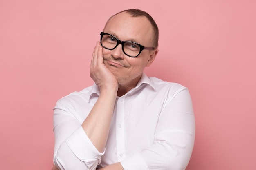
<svg viewBox="0 0 256 170">
<path fill-rule="evenodd" d="M 184 170 L 195 139 L 189 91 L 143 74 L 115 102 L 105 150 L 100 153 L 81 124 L 100 93 L 94 84 L 54 107 L 54 164 L 61 170 L 95 170 L 121 162 L 125 170 Z"/>
</svg>

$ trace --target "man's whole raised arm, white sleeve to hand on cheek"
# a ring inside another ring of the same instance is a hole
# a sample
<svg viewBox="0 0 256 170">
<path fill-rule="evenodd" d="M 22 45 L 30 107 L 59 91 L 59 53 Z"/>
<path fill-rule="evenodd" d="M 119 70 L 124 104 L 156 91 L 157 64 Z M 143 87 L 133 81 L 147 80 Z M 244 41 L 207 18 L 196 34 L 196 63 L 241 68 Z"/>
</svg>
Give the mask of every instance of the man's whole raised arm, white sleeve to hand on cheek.
<svg viewBox="0 0 256 170">
<path fill-rule="evenodd" d="M 103 64 L 99 42 L 92 55 L 90 75 L 99 87 L 100 95 L 82 125 L 72 115 L 76 110 L 70 111 L 72 103 L 59 102 L 54 110 L 54 134 L 57 143 L 54 163 L 61 170 L 74 167 L 76 170 L 95 169 L 106 145 L 118 84 L 115 76 Z"/>
</svg>

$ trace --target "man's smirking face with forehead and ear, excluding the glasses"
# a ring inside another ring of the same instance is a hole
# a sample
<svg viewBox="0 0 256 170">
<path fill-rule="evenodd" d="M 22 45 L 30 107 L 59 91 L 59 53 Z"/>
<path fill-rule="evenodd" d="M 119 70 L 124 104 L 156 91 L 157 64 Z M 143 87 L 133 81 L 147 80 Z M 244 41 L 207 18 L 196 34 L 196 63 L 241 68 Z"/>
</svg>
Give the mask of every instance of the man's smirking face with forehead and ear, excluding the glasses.
<svg viewBox="0 0 256 170">
<path fill-rule="evenodd" d="M 131 17 L 123 12 L 112 17 L 104 29 L 105 33 L 114 35 L 121 41 L 137 42 L 145 47 L 153 46 L 153 28 L 146 17 Z M 150 66 L 158 50 L 143 50 L 138 57 L 129 57 L 117 48 L 108 50 L 103 48 L 104 64 L 115 75 L 122 86 L 135 86 L 144 68 Z"/>
</svg>

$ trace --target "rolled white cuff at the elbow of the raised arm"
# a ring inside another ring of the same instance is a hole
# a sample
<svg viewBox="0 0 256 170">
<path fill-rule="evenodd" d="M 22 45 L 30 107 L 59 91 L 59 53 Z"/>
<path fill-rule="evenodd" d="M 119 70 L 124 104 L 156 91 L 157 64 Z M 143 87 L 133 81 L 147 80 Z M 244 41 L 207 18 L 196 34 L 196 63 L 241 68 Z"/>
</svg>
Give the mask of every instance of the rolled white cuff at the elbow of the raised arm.
<svg viewBox="0 0 256 170">
<path fill-rule="evenodd" d="M 66 140 L 67 146 L 72 150 L 74 155 L 85 164 L 90 167 L 90 164 L 99 160 L 101 162 L 101 156 L 105 153 L 105 148 L 103 153 L 100 153 L 97 148 L 92 144 L 82 126 L 79 126 L 70 137 Z"/>
</svg>

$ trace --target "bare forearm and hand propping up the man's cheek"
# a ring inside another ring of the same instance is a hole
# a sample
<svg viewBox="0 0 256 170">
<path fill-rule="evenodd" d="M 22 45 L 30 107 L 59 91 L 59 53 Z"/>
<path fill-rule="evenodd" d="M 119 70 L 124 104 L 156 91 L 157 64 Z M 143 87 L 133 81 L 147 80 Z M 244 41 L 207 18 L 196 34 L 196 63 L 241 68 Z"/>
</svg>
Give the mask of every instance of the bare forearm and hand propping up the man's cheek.
<svg viewBox="0 0 256 170">
<path fill-rule="evenodd" d="M 100 96 L 83 122 L 82 128 L 97 150 L 103 152 L 110 130 L 118 84 L 115 76 L 103 64 L 102 46 L 99 42 L 92 55 L 90 75 L 100 89 Z"/>
</svg>

